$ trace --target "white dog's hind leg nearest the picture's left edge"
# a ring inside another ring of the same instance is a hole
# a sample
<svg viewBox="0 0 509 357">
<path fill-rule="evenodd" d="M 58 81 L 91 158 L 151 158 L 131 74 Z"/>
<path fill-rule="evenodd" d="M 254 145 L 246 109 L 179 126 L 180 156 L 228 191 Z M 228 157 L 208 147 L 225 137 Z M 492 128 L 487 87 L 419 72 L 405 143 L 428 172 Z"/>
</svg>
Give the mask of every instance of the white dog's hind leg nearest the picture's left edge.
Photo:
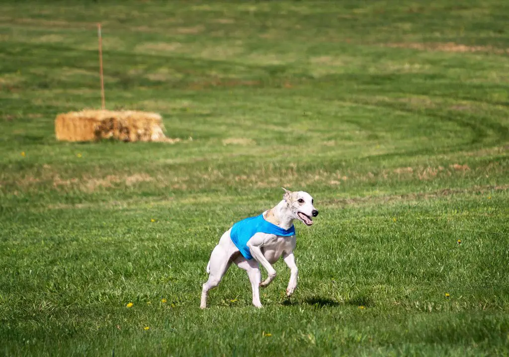
<svg viewBox="0 0 509 357">
<path fill-rule="evenodd" d="M 219 285 L 224 273 L 228 270 L 232 263 L 232 256 L 238 251 L 239 250 L 230 238 L 230 231 L 225 232 L 210 255 L 210 261 L 207 265 L 209 270 L 209 279 L 205 284 L 203 284 L 200 308 L 205 309 L 207 307 L 207 296 L 209 290 L 214 289 L 217 285 Z"/>
</svg>

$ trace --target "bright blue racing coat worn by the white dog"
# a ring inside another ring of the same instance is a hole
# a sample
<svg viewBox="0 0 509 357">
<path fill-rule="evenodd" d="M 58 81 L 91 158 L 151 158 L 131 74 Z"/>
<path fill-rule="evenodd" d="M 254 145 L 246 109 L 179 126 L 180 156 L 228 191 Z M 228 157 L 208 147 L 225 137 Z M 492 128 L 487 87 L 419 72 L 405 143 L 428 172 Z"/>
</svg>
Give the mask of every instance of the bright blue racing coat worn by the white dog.
<svg viewBox="0 0 509 357">
<path fill-rule="evenodd" d="M 255 216 L 242 219 L 233 225 L 230 237 L 239 249 L 240 253 L 246 259 L 253 259 L 247 241 L 256 233 L 275 234 L 279 236 L 289 237 L 295 235 L 295 226 L 292 225 L 288 230 L 277 227 L 276 225 L 265 221 L 263 213 Z"/>
</svg>

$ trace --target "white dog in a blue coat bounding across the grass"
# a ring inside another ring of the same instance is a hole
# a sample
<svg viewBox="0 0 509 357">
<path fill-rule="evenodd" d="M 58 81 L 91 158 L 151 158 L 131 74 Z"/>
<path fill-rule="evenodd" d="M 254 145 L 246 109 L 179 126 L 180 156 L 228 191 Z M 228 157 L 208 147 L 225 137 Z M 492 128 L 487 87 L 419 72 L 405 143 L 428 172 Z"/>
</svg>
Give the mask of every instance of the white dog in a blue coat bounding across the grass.
<svg viewBox="0 0 509 357">
<path fill-rule="evenodd" d="M 207 294 L 215 288 L 224 273 L 235 262 L 239 268 L 247 271 L 253 294 L 253 305 L 262 307 L 259 286 L 266 287 L 276 276 L 271 264 L 281 256 L 291 271 L 287 295 L 292 295 L 297 286 L 297 265 L 293 250 L 295 249 L 294 219 L 299 219 L 306 226 L 313 224 L 318 211 L 313 206 L 313 198 L 304 191 L 291 192 L 286 188 L 283 200 L 275 207 L 259 216 L 249 217 L 237 222 L 224 232 L 210 256 L 207 272 L 209 280 L 203 284 L 200 307 L 207 307 Z M 267 270 L 268 277 L 261 283 L 260 264 Z"/>
</svg>

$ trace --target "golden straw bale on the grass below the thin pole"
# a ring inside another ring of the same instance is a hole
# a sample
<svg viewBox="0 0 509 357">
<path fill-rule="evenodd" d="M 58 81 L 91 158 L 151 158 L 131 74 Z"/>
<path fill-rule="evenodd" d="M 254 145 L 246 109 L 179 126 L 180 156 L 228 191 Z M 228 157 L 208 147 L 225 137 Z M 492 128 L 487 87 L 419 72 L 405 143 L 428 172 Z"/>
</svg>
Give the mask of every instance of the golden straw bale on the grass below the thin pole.
<svg viewBox="0 0 509 357">
<path fill-rule="evenodd" d="M 163 129 L 161 116 L 147 112 L 87 109 L 59 114 L 55 119 L 56 139 L 60 141 L 100 139 L 165 143 L 179 141 L 166 138 Z"/>
</svg>

